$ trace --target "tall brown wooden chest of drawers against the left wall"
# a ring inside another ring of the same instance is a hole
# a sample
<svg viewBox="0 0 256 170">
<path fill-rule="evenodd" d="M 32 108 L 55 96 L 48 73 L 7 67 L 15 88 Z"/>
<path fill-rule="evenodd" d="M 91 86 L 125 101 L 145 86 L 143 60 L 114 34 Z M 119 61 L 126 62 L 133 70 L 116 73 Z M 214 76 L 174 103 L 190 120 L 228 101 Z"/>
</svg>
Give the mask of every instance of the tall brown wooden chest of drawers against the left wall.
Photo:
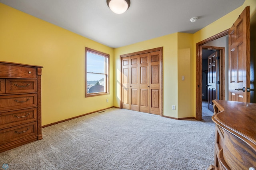
<svg viewBox="0 0 256 170">
<path fill-rule="evenodd" d="M 42 139 L 41 72 L 0 61 L 0 152 Z"/>
</svg>

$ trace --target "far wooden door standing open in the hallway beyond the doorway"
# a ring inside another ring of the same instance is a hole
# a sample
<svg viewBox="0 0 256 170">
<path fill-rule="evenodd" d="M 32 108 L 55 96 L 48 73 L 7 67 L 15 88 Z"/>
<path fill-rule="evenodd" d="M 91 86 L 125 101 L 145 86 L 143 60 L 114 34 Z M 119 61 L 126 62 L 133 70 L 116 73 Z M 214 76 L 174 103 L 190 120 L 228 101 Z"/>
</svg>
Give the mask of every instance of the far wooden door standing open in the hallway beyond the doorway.
<svg viewBox="0 0 256 170">
<path fill-rule="evenodd" d="M 218 70 L 218 60 L 217 51 L 208 56 L 208 109 L 214 112 L 212 101 L 216 99 L 217 90 L 216 90 L 216 82 L 217 82 L 217 70 Z"/>
</svg>

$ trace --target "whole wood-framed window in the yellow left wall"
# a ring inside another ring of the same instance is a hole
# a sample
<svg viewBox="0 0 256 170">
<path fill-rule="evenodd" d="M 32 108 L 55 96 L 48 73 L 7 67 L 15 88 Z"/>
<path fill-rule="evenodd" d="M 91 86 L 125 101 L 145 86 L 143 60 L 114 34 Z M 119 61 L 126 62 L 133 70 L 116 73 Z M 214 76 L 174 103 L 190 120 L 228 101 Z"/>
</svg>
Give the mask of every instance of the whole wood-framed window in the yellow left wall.
<svg viewBox="0 0 256 170">
<path fill-rule="evenodd" d="M 109 55 L 85 48 L 85 97 L 107 95 L 109 92 Z"/>
</svg>

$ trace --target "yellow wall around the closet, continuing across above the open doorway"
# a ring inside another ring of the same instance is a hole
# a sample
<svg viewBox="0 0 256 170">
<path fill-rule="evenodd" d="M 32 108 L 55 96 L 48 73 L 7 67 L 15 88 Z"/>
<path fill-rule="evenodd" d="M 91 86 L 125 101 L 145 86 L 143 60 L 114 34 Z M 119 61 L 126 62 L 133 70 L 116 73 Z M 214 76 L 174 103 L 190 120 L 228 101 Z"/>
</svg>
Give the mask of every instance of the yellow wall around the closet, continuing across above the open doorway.
<svg viewBox="0 0 256 170">
<path fill-rule="evenodd" d="M 176 118 L 196 117 L 196 43 L 230 28 L 246 6 L 250 6 L 252 16 L 256 12 L 256 1 L 246 0 L 239 8 L 195 34 L 175 33 L 114 49 L 114 105 L 119 107 L 120 102 L 119 56 L 163 46 L 163 114 Z M 184 81 L 182 75 L 185 75 Z M 171 105 L 176 105 L 175 111 Z"/>
</svg>

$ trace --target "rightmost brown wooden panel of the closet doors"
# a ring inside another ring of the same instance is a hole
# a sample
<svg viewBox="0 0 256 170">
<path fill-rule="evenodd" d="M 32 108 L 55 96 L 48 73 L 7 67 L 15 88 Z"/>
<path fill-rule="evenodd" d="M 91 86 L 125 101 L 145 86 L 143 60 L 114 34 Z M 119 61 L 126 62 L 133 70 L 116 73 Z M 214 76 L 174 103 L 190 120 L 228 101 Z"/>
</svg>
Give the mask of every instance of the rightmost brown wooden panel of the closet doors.
<svg viewBox="0 0 256 170">
<path fill-rule="evenodd" d="M 160 71 L 160 51 L 149 53 L 149 101 L 150 113 L 160 115 L 160 94 L 161 94 L 161 71 Z"/>
</svg>

